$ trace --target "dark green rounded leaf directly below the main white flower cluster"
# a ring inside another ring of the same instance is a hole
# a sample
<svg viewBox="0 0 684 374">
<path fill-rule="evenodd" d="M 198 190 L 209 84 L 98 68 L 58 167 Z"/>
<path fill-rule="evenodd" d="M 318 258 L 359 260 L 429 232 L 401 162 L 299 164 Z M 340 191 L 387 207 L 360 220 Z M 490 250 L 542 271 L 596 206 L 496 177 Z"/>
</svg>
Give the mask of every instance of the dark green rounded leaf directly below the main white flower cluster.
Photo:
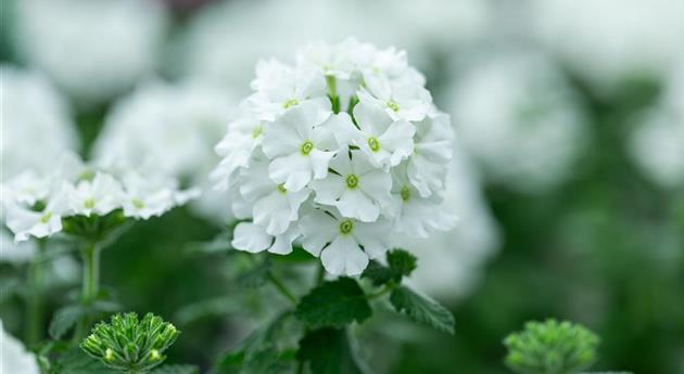
<svg viewBox="0 0 684 374">
<path fill-rule="evenodd" d="M 311 328 L 362 323 L 372 314 L 366 295 L 350 278 L 325 282 L 302 298 L 294 315 Z"/>
</svg>

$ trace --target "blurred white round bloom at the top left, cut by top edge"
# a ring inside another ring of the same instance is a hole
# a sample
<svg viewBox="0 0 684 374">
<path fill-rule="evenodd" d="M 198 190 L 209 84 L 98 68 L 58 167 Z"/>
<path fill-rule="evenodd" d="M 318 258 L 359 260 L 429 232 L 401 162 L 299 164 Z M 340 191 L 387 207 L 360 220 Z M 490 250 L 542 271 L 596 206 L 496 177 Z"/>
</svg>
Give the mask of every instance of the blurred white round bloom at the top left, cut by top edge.
<svg viewBox="0 0 684 374">
<path fill-rule="evenodd" d="M 17 1 L 16 48 L 79 104 L 131 88 L 157 63 L 167 24 L 144 0 Z"/>
</svg>

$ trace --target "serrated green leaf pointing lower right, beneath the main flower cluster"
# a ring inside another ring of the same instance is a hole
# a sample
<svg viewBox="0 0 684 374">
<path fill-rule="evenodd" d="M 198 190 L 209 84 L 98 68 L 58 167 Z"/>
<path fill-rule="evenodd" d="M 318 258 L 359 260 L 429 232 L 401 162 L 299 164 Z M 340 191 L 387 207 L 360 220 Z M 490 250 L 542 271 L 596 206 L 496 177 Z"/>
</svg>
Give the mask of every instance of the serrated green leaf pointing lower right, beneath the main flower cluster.
<svg viewBox="0 0 684 374">
<path fill-rule="evenodd" d="M 439 331 L 454 334 L 454 315 L 435 300 L 419 295 L 405 286 L 396 287 L 390 295 L 394 309 L 411 320 Z"/>
</svg>

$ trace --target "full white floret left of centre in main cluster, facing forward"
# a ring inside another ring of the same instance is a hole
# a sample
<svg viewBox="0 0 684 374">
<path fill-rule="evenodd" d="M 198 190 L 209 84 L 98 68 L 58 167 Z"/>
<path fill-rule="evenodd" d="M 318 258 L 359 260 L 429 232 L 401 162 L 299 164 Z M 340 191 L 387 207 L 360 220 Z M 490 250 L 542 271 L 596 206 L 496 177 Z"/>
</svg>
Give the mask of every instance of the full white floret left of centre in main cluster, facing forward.
<svg viewBox="0 0 684 374">
<path fill-rule="evenodd" d="M 328 175 L 337 151 L 332 129 L 321 124 L 330 112 L 318 103 L 299 105 L 268 125 L 264 154 L 273 159 L 268 175 L 288 191 L 302 190 L 312 179 Z"/>
</svg>

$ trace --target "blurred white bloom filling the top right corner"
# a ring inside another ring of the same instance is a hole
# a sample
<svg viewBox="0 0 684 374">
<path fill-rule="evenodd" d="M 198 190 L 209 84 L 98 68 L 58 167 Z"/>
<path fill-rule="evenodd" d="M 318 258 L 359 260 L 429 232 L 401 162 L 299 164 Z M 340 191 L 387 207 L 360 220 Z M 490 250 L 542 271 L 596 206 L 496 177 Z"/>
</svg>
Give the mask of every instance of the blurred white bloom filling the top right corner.
<svg viewBox="0 0 684 374">
<path fill-rule="evenodd" d="M 532 0 L 529 4 L 535 37 L 599 93 L 610 93 L 636 75 L 660 77 L 684 51 L 682 1 Z"/>
</svg>

